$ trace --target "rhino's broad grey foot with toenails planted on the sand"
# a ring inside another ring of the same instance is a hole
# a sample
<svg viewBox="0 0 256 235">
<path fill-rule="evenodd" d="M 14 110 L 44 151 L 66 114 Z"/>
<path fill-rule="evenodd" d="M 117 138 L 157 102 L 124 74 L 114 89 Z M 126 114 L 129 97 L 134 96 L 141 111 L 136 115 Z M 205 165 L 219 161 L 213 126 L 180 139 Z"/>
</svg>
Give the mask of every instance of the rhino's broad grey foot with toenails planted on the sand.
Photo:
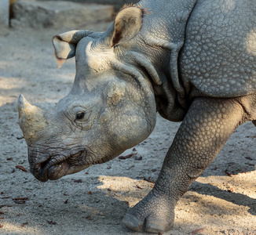
<svg viewBox="0 0 256 235">
<path fill-rule="evenodd" d="M 137 232 L 166 232 L 174 224 L 174 207 L 151 192 L 126 213 L 123 223 Z"/>
</svg>

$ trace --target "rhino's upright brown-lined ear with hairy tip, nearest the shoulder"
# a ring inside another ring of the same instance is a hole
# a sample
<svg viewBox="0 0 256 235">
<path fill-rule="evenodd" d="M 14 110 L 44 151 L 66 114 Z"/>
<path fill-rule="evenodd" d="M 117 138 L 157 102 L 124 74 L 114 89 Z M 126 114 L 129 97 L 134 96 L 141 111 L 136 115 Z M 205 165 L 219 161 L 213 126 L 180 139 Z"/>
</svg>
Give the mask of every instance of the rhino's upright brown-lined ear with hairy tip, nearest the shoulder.
<svg viewBox="0 0 256 235">
<path fill-rule="evenodd" d="M 111 36 L 110 46 L 113 47 L 134 38 L 141 31 L 144 14 L 145 10 L 139 6 L 124 6 L 115 16 L 112 34 L 109 35 Z"/>
</svg>

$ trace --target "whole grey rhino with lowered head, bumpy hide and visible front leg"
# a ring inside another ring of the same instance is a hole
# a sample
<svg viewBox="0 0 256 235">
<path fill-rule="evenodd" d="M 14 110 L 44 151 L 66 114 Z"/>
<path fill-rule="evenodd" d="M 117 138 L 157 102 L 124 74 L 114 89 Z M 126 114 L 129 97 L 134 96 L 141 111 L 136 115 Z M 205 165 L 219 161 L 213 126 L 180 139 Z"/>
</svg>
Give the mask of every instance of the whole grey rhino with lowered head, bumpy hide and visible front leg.
<svg viewBox="0 0 256 235">
<path fill-rule="evenodd" d="M 156 111 L 182 121 L 155 187 L 123 219 L 133 230 L 163 232 L 173 225 L 177 200 L 232 132 L 256 124 L 256 2 L 138 5 L 121 10 L 103 34 L 53 38 L 60 62 L 75 56 L 73 88 L 48 112 L 20 96 L 20 128 L 31 172 L 46 181 L 140 143 Z"/>
</svg>

